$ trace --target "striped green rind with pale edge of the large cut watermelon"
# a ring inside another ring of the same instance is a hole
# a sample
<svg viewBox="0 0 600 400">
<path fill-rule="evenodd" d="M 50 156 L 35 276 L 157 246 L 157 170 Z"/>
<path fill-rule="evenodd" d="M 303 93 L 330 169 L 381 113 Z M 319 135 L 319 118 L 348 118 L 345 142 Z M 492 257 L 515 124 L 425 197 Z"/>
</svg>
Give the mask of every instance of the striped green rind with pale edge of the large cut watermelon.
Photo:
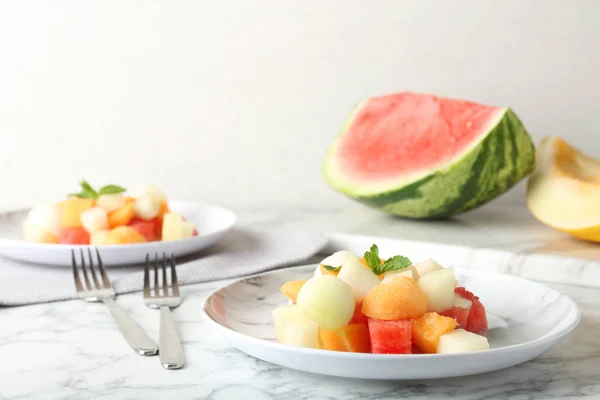
<svg viewBox="0 0 600 400">
<path fill-rule="evenodd" d="M 347 178 L 338 179 L 332 162 L 336 144 L 326 156 L 325 179 L 348 197 L 401 217 L 446 218 L 472 210 L 506 192 L 533 170 L 535 150 L 529 133 L 510 108 L 501 111 L 479 141 L 450 165 L 424 172 L 416 179 L 403 179 L 387 190 L 379 187 L 377 193 L 365 195 L 364 190 L 357 189 L 364 182 L 348 184 Z M 349 123 L 338 139 L 343 139 Z"/>
</svg>

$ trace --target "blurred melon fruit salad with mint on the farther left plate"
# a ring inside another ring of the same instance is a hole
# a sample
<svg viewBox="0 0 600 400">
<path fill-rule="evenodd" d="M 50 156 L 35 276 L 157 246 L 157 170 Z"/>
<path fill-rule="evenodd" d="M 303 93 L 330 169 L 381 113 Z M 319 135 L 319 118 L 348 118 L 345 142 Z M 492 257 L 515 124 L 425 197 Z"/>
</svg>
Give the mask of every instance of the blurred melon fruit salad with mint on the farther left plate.
<svg viewBox="0 0 600 400">
<path fill-rule="evenodd" d="M 180 240 L 198 231 L 169 209 L 167 196 L 155 186 L 127 194 L 117 185 L 96 190 L 83 181 L 79 193 L 32 208 L 23 222 L 23 235 L 36 243 L 102 246 Z"/>
</svg>

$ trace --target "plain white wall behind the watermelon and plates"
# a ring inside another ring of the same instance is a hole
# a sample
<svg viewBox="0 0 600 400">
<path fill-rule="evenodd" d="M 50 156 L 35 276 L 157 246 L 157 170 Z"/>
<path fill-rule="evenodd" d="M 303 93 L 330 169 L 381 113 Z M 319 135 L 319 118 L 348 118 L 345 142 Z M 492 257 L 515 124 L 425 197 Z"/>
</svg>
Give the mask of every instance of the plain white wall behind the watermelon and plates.
<svg viewBox="0 0 600 400">
<path fill-rule="evenodd" d="M 0 208 L 80 178 L 343 206 L 325 150 L 400 90 L 511 106 L 600 157 L 598 21 L 595 0 L 0 0 Z"/>
</svg>

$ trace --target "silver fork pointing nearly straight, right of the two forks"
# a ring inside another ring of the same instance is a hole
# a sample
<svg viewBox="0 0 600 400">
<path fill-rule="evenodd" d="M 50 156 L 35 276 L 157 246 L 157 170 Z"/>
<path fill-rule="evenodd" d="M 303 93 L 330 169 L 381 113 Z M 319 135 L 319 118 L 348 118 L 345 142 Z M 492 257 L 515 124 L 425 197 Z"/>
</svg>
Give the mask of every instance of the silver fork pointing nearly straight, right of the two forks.
<svg viewBox="0 0 600 400">
<path fill-rule="evenodd" d="M 170 282 L 167 279 L 167 264 L 171 268 Z M 158 253 L 155 253 L 153 267 L 154 288 L 151 290 L 150 254 L 146 254 L 144 303 L 150 308 L 160 309 L 160 331 L 158 334 L 160 363 L 167 369 L 178 369 L 183 367 L 183 350 L 181 348 L 181 340 L 179 340 L 179 335 L 177 335 L 175 324 L 171 318 L 171 308 L 175 308 L 181 304 L 177 272 L 175 271 L 175 257 L 173 254 L 167 257 L 163 253 L 162 258 L 159 260 Z M 162 286 L 159 283 L 159 269 L 162 271 Z"/>
</svg>

